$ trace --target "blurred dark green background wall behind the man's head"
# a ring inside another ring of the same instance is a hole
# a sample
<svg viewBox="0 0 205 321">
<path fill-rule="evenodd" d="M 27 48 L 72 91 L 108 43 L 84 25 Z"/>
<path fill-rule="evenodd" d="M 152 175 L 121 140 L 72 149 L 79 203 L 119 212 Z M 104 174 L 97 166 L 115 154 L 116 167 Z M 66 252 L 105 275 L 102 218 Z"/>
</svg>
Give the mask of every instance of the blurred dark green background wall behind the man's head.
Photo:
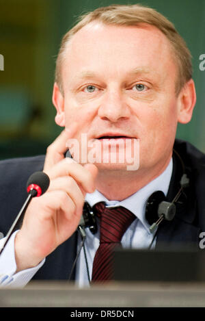
<svg viewBox="0 0 205 321">
<path fill-rule="evenodd" d="M 115 0 L 0 0 L 0 159 L 46 152 L 60 133 L 51 97 L 55 58 L 62 36 L 77 17 L 99 6 L 133 4 Z M 204 0 L 141 0 L 176 26 L 193 55 L 197 104 L 188 125 L 177 137 L 205 152 Z"/>
</svg>

